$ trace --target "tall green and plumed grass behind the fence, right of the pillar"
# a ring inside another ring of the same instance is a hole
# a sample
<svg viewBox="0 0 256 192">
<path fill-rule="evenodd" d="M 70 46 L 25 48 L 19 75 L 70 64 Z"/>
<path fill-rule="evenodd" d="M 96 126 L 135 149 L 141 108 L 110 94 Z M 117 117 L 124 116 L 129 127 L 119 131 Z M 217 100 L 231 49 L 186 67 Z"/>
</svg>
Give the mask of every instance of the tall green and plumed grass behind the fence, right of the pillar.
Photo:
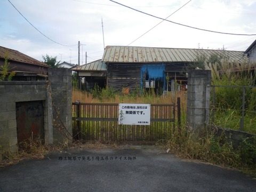
<svg viewBox="0 0 256 192">
<path fill-rule="evenodd" d="M 215 104 L 212 106 L 215 109 L 214 124 L 239 130 L 243 112 L 244 87 L 243 131 L 256 133 L 256 88 L 252 87 L 256 86 L 255 64 L 223 60 L 219 63 L 210 63 L 207 69 L 212 70 L 212 85 L 217 85 L 215 86 Z M 221 69 L 221 73 L 218 69 Z"/>
</svg>

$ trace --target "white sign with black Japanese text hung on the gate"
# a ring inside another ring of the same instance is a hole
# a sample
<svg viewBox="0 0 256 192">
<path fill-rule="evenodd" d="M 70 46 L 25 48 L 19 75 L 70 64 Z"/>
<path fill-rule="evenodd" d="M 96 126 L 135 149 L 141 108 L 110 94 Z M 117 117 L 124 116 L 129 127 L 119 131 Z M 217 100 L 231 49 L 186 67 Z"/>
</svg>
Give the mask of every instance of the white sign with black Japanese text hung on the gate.
<svg viewBox="0 0 256 192">
<path fill-rule="evenodd" d="M 150 104 L 119 103 L 119 125 L 150 125 Z"/>
</svg>

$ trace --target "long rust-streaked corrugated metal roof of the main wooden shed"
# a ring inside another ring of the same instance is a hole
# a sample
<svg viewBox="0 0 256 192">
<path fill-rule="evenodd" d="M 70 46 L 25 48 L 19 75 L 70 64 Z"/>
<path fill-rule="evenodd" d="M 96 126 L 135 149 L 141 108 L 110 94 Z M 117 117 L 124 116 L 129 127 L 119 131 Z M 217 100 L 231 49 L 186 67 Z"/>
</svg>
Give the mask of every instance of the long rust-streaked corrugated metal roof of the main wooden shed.
<svg viewBox="0 0 256 192">
<path fill-rule="evenodd" d="M 204 50 L 204 49 L 175 49 L 138 46 L 106 46 L 103 62 L 192 62 L 197 55 L 223 55 L 230 60 L 240 60 L 243 51 Z"/>
</svg>

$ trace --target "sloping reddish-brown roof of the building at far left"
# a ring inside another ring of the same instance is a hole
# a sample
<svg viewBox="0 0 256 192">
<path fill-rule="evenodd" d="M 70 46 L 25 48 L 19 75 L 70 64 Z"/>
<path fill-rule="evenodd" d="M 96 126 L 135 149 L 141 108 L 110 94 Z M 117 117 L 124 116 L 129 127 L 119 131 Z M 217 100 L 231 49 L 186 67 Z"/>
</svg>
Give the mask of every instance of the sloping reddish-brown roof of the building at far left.
<svg viewBox="0 0 256 192">
<path fill-rule="evenodd" d="M 36 60 L 34 58 L 31 58 L 28 55 L 23 54 L 23 53 L 21 53 L 19 51 L 8 49 L 6 47 L 0 46 L 0 58 L 5 58 L 6 57 L 6 53 L 8 53 L 8 58 L 7 59 L 9 61 L 12 60 L 12 61 L 29 63 L 29 64 L 43 66 L 43 67 L 50 67 L 46 63 L 38 61 L 38 60 Z"/>
</svg>

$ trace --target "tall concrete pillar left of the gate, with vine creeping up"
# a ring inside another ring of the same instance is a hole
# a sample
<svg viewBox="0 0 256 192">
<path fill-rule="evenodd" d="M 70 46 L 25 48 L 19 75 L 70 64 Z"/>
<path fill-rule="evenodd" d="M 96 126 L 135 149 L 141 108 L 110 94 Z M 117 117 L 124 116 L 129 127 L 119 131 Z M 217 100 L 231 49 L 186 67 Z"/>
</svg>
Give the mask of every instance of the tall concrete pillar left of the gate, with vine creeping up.
<svg viewBox="0 0 256 192">
<path fill-rule="evenodd" d="M 53 111 L 53 143 L 72 141 L 72 71 L 66 68 L 50 68 Z"/>
</svg>

